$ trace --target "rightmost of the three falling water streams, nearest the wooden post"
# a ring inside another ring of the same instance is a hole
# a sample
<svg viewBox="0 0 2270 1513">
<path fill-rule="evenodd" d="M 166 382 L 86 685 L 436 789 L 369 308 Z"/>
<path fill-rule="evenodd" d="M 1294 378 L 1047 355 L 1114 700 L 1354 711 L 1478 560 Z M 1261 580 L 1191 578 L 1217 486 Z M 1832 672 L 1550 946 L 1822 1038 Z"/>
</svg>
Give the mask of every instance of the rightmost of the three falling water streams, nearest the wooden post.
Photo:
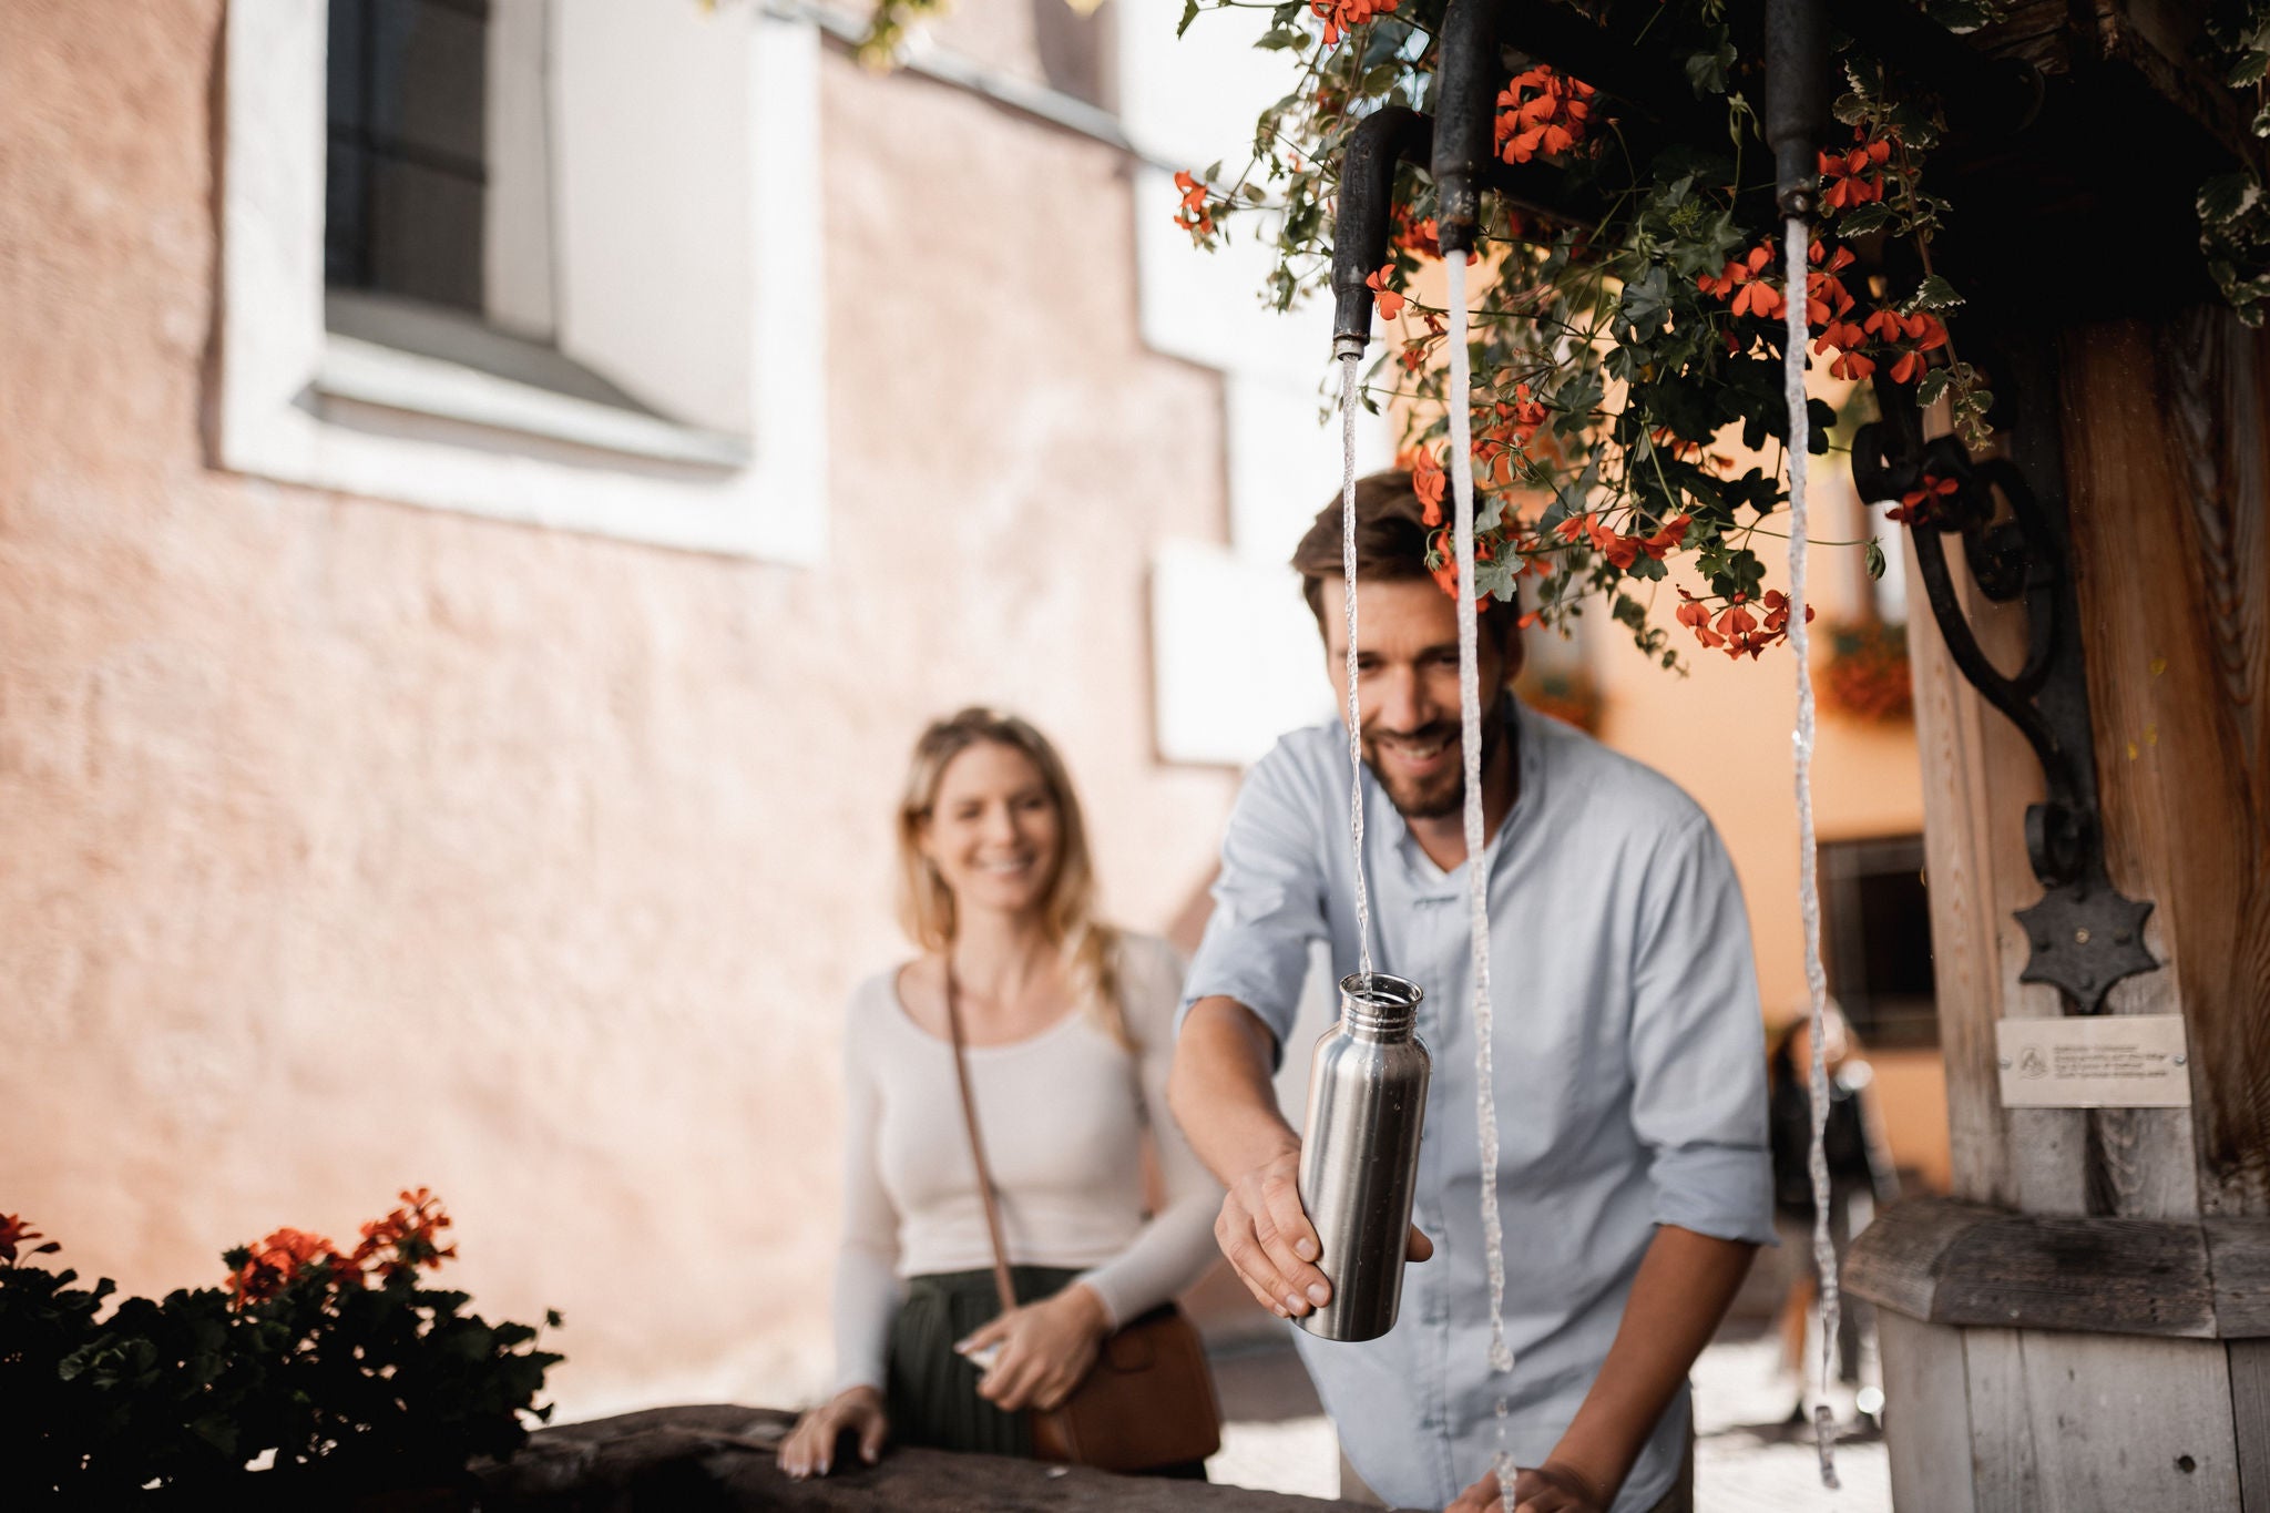
<svg viewBox="0 0 2270 1513">
<path fill-rule="evenodd" d="M 1836 1486 L 1836 1420 L 1830 1413 L 1830 1379 L 1836 1361 L 1836 1243 L 1830 1239 L 1830 1073 L 1827 978 L 1821 971 L 1821 880 L 1814 864 L 1814 674 L 1811 637 L 1805 628 L 1805 460 L 1811 449 L 1811 426 L 1805 413 L 1805 270 L 1811 234 L 1791 215 L 1784 229 L 1784 304 L 1789 336 L 1784 338 L 1782 392 L 1789 402 L 1789 656 L 1798 662 L 1798 907 L 1805 919 L 1805 991 L 1811 998 L 1814 1064 L 1809 1068 L 1814 1102 L 1814 1148 L 1807 1161 L 1814 1180 L 1814 1268 L 1821 1273 L 1821 1395 L 1814 1402 L 1814 1443 L 1821 1447 L 1821 1484 Z"/>
</svg>

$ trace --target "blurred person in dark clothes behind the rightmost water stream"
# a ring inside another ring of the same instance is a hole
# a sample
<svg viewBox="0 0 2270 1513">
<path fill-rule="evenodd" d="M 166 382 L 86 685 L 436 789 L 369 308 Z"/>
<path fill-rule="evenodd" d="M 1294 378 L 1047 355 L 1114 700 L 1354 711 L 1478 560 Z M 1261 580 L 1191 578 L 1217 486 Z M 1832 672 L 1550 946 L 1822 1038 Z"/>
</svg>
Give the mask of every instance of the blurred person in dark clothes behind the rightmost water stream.
<svg viewBox="0 0 2270 1513">
<path fill-rule="evenodd" d="M 1900 1195 L 1900 1177 L 1882 1134 L 1875 1096 L 1868 1091 L 1875 1071 L 1834 1000 L 1830 1000 L 1821 1028 L 1830 1073 L 1830 1116 L 1823 1134 L 1830 1166 L 1830 1241 L 1836 1245 L 1841 1268 L 1852 1236 L 1868 1227 L 1880 1205 Z M 1766 1127 L 1773 1139 L 1773 1227 L 1793 1270 L 1789 1298 L 1782 1302 L 1782 1361 L 1800 1384 L 1811 1377 L 1814 1352 L 1807 1352 L 1805 1345 L 1811 1309 L 1821 1295 L 1821 1268 L 1814 1261 L 1811 1066 L 1811 1018 L 1798 1016 L 1773 1046 L 1766 1071 Z M 1868 1304 L 1861 1300 L 1843 1295 L 1836 1327 L 1836 1379 L 1846 1386 L 1861 1381 L 1861 1338 L 1870 1325 L 1866 1309 Z M 1807 1388 L 1800 1386 L 1791 1422 L 1807 1422 L 1805 1393 Z M 1868 1406 L 1864 1404 L 1861 1411 Z"/>
</svg>

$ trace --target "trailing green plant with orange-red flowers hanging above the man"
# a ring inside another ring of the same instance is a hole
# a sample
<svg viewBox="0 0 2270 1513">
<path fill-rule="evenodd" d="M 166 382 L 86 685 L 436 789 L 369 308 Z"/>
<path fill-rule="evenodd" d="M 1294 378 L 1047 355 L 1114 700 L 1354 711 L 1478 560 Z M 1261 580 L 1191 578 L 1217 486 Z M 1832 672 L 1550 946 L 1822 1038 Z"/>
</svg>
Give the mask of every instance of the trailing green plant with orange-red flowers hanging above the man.
<svg viewBox="0 0 2270 1513">
<path fill-rule="evenodd" d="M 1205 9 L 1255 7 L 1185 0 L 1183 27 Z M 1201 245 L 1239 227 L 1271 245 L 1276 306 L 1328 286 L 1330 206 L 1355 127 L 1380 107 L 1432 109 L 1444 9 L 1446 0 L 1285 0 L 1269 11 L 1255 45 L 1287 54 L 1296 79 L 1262 111 L 1244 168 L 1187 175 L 1180 220 Z M 1614 98 L 1512 54 L 1496 95 L 1496 152 L 1523 175 L 1523 193 L 1519 204 L 1485 195 L 1471 311 L 1478 585 L 1512 599 L 1528 578 L 1530 617 L 1548 624 L 1598 597 L 1666 667 L 1684 646 L 1657 608 L 1675 610 L 1691 644 L 1755 658 L 1786 635 L 1766 553 L 1784 535 L 1791 299 L 1802 299 L 1809 358 L 1830 379 L 1889 381 L 1916 406 L 1943 402 L 1968 445 L 1989 436 L 1993 395 L 1957 349 L 1964 297 L 1932 261 L 1948 218 L 1930 188 L 1943 104 L 1932 79 L 1893 77 L 1843 45 L 1846 88 L 1834 102 L 1843 136 L 1818 154 L 1809 268 L 1791 288 L 1755 109 L 1762 66 L 1737 50 L 1727 7 L 1546 9 L 1564 29 L 1598 23 L 1596 50 L 1632 77 L 1673 84 L 1641 104 L 1628 84 L 1628 98 Z M 1984 0 L 1925 9 L 1950 29 L 2000 14 Z M 2243 32 L 2247 70 L 2261 77 L 2270 25 L 2256 14 L 2270 16 L 2270 0 L 2243 9 L 2254 25 Z M 1389 261 L 1369 279 L 1389 343 L 1364 404 L 1394 404 L 1405 449 L 1446 467 L 1446 322 L 1416 293 L 1439 256 L 1435 186 L 1403 166 L 1394 200 Z M 2231 236 L 2254 225 L 2250 215 L 2270 227 L 2259 188 L 2229 195 L 2229 206 L 2218 200 L 2218 211 Z M 1886 247 L 1900 256 L 1886 259 Z M 1834 422 L 1816 399 L 1814 451 L 1830 449 Z M 1673 567 L 1691 572 L 1700 592 L 1682 588 L 1666 606 Z M 1873 547 L 1868 567 L 1882 572 Z"/>
</svg>

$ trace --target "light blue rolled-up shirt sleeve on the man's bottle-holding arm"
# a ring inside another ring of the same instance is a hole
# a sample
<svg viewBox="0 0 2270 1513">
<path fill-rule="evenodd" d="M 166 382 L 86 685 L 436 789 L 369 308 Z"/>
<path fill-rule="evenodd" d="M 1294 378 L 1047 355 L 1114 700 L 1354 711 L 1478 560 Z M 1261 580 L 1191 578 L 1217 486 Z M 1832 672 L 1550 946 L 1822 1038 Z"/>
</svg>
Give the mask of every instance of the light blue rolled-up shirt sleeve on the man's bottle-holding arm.
<svg viewBox="0 0 2270 1513">
<path fill-rule="evenodd" d="M 1283 1057 L 1301 1007 L 1308 946 L 1326 932 L 1317 835 L 1328 803 L 1301 780 L 1283 744 L 1246 774 L 1221 835 L 1214 912 L 1183 980 L 1178 1030 L 1196 1000 L 1235 998 L 1269 1025 Z"/>
</svg>

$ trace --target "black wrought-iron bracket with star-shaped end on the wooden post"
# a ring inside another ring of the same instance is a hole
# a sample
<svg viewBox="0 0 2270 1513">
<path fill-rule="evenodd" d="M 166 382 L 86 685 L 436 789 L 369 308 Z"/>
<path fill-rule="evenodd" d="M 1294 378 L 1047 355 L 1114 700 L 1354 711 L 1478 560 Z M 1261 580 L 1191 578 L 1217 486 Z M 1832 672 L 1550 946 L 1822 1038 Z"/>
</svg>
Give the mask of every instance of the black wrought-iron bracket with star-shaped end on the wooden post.
<svg viewBox="0 0 2270 1513">
<path fill-rule="evenodd" d="M 2054 984 L 2068 1014 L 2102 1014 L 2113 982 L 2159 966 L 2143 944 L 2152 901 L 2127 898 L 2104 871 L 2063 463 L 2045 399 L 2054 374 L 2045 361 L 2027 367 L 2000 374 L 1998 388 L 2016 379 L 2023 402 L 2007 426 L 2009 456 L 1984 460 L 1952 436 L 1925 442 L 1914 395 L 1880 372 L 1875 399 L 1884 420 L 1852 438 L 1852 481 L 1870 501 L 1918 499 L 1907 506 L 1909 542 L 1948 656 L 2018 726 L 2041 762 L 2048 794 L 2025 810 L 2025 853 L 2043 896 L 2016 912 L 2032 946 L 2018 980 Z M 2029 474 L 2045 485 L 2041 492 Z M 2025 601 L 2027 649 L 2013 674 L 1998 669 L 1970 631 L 1948 565 L 1948 535 L 1961 538 L 1979 594 L 1993 603 Z"/>
</svg>

